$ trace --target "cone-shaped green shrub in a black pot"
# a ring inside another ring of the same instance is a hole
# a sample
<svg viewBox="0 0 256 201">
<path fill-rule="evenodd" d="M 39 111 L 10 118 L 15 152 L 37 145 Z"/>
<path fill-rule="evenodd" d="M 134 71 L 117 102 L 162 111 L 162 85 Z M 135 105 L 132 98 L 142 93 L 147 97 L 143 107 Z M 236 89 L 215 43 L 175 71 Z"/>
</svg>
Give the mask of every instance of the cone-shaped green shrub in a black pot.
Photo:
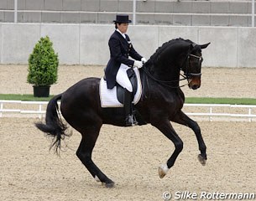
<svg viewBox="0 0 256 201">
<path fill-rule="evenodd" d="M 58 66 L 58 54 L 55 54 L 52 42 L 48 36 L 42 37 L 29 55 L 27 81 L 33 85 L 35 97 L 49 97 L 50 85 L 58 78 Z"/>
</svg>

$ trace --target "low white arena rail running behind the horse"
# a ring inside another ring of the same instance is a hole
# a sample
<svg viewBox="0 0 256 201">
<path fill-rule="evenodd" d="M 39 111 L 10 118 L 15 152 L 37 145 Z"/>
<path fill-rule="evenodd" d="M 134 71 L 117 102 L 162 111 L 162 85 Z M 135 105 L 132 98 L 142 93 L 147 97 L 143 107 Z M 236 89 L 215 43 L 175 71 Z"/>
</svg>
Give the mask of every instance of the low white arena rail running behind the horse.
<svg viewBox="0 0 256 201">
<path fill-rule="evenodd" d="M 39 117 L 45 115 L 48 101 L 4 101 L 0 100 L 0 117 Z M 32 109 L 31 109 L 32 108 Z M 199 116 L 202 120 L 256 121 L 256 106 L 230 104 L 184 104 L 185 114 Z"/>
</svg>

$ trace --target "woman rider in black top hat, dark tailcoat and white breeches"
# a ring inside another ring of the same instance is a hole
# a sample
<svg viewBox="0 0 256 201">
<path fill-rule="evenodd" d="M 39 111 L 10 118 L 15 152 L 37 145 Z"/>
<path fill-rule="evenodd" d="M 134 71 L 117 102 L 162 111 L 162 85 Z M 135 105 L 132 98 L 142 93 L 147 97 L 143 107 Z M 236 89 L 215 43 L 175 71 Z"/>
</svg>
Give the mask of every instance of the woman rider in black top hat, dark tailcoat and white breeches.
<svg viewBox="0 0 256 201">
<path fill-rule="evenodd" d="M 133 49 L 133 44 L 126 34 L 128 23 L 132 22 L 128 19 L 128 15 L 118 14 L 116 20 L 113 22 L 115 23 L 116 30 L 112 33 L 108 41 L 110 59 L 105 70 L 107 89 L 112 89 L 116 83 L 123 86 L 125 124 L 126 126 L 134 126 L 138 122 L 136 121 L 135 116 L 133 116 L 133 87 L 128 79 L 127 70 L 134 67 L 137 67 L 138 69 L 142 68 L 143 63 L 147 60 Z M 134 60 L 128 59 L 129 56 Z"/>
</svg>

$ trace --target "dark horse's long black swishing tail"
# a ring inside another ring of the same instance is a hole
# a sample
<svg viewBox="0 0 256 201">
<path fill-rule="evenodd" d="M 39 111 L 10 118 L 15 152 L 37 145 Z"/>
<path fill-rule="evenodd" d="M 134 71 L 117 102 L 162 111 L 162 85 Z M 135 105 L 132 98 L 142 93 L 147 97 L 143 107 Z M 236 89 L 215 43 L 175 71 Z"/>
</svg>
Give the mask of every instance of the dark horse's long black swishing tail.
<svg viewBox="0 0 256 201">
<path fill-rule="evenodd" d="M 58 100 L 61 100 L 60 95 L 55 95 L 48 103 L 45 116 L 45 124 L 43 122 L 35 123 L 35 126 L 45 132 L 48 136 L 54 137 L 53 143 L 50 148 L 55 147 L 55 152 L 60 150 L 60 142 L 64 140 L 65 136 L 70 136 L 65 133 L 67 126 L 60 119 L 60 111 Z"/>
</svg>

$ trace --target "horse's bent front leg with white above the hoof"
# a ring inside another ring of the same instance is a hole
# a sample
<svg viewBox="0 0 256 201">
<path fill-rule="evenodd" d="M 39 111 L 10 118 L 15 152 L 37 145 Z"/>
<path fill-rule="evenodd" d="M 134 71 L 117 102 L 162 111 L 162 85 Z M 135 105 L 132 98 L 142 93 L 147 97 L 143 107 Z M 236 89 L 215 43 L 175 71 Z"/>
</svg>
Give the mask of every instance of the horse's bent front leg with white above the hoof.
<svg viewBox="0 0 256 201">
<path fill-rule="evenodd" d="M 168 170 L 175 164 L 176 158 L 179 156 L 180 152 L 183 149 L 183 142 L 181 141 L 180 137 L 175 132 L 174 128 L 171 126 L 169 120 L 165 121 L 157 121 L 151 122 L 153 126 L 159 129 L 162 133 L 164 133 L 165 137 L 168 137 L 171 142 L 175 144 L 175 151 L 172 153 L 166 164 L 159 166 L 159 177 L 164 178 L 165 174 Z"/>
</svg>

